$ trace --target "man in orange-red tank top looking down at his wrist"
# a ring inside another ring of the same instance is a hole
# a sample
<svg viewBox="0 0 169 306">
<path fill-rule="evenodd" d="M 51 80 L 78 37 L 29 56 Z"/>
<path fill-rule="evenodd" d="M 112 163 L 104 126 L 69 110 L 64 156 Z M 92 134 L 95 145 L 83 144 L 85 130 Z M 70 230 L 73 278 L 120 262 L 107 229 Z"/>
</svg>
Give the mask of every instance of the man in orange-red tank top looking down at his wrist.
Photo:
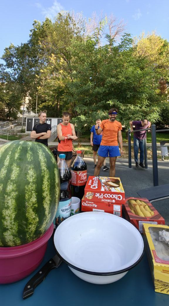
<svg viewBox="0 0 169 306">
<path fill-rule="evenodd" d="M 72 140 L 76 140 L 75 127 L 70 121 L 70 114 L 64 112 L 62 115 L 63 122 L 57 125 L 57 135 L 60 143 L 57 147 L 57 162 L 59 161 L 59 154 L 65 154 L 65 161 L 70 167 L 72 161 Z"/>
</svg>

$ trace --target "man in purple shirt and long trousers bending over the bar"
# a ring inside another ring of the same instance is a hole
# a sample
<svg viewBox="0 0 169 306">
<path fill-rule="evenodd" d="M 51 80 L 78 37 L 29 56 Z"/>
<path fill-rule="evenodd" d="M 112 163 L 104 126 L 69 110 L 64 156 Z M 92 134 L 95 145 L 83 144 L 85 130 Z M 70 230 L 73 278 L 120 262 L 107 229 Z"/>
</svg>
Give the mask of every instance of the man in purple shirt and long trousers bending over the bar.
<svg viewBox="0 0 169 306">
<path fill-rule="evenodd" d="M 140 129 L 148 129 L 151 125 L 147 119 L 142 119 L 141 121 L 130 121 L 130 130 L 133 132 L 133 127 L 135 130 Z M 144 161 L 144 144 L 146 138 L 146 131 L 134 132 L 134 160 L 136 163 L 136 168 L 141 166 L 145 168 L 143 161 Z M 138 148 L 140 149 L 140 163 L 138 164 Z"/>
</svg>

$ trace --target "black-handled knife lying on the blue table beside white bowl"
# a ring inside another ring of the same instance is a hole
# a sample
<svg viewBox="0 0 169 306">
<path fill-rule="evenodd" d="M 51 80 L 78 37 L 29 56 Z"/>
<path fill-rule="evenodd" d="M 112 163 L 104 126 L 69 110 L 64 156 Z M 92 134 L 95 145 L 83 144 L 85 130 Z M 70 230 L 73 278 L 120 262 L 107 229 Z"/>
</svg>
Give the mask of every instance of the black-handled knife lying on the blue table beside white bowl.
<svg viewBox="0 0 169 306">
<path fill-rule="evenodd" d="M 34 293 L 34 289 L 39 285 L 53 269 L 59 267 L 62 259 L 56 254 L 53 258 L 49 259 L 47 263 L 27 282 L 24 287 L 23 298 L 26 299 Z"/>
</svg>

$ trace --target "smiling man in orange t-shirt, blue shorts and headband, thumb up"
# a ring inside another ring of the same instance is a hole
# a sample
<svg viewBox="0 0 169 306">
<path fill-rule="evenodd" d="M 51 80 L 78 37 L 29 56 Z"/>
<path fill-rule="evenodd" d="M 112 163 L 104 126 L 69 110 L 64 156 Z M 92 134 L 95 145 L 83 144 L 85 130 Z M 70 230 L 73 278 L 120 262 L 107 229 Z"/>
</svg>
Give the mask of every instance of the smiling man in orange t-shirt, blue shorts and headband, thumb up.
<svg viewBox="0 0 169 306">
<path fill-rule="evenodd" d="M 94 170 L 94 175 L 98 176 L 100 173 L 101 166 L 106 157 L 109 155 L 110 159 L 110 171 L 109 176 L 115 177 L 115 164 L 117 156 L 123 155 L 123 139 L 122 139 L 122 125 L 116 120 L 118 110 L 116 108 L 111 108 L 108 111 L 109 119 L 103 120 L 101 125 L 95 125 L 95 130 L 97 135 L 103 131 L 103 136 L 101 144 L 98 150 L 98 162 Z M 119 152 L 119 146 L 120 152 Z"/>
</svg>

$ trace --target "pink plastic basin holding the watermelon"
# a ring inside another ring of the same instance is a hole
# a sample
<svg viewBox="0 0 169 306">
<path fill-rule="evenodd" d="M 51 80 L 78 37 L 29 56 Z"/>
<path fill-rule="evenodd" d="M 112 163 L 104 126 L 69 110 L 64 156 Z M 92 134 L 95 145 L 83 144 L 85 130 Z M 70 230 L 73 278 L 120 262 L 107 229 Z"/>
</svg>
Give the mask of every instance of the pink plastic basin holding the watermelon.
<svg viewBox="0 0 169 306">
<path fill-rule="evenodd" d="M 53 223 L 35 241 L 17 247 L 0 248 L 0 284 L 17 282 L 31 274 L 41 263 L 52 233 Z"/>
</svg>

